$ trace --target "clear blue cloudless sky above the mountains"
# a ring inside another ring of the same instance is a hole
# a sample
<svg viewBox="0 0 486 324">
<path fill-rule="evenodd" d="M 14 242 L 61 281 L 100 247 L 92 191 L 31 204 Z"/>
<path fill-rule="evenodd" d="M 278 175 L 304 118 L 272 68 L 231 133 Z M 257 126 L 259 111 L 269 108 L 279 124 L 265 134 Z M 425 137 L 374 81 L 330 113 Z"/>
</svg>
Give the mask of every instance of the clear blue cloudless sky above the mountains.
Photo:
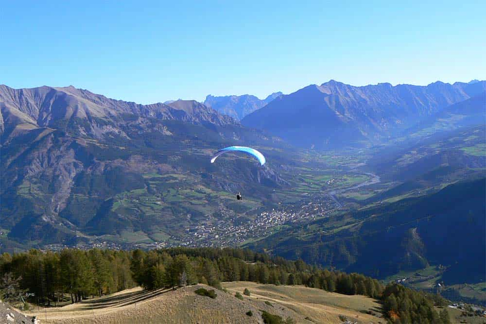
<svg viewBox="0 0 486 324">
<path fill-rule="evenodd" d="M 486 1 L 243 2 L 2 1 L 0 84 L 151 103 L 486 79 Z"/>
</svg>

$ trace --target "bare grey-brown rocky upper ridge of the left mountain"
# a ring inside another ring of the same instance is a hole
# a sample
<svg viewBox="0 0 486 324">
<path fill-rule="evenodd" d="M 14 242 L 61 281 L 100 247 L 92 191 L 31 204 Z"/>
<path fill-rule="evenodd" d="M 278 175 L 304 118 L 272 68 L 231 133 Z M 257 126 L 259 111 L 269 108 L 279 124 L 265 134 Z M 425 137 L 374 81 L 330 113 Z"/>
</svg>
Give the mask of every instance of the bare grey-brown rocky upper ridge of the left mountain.
<svg viewBox="0 0 486 324">
<path fill-rule="evenodd" d="M 0 131 L 28 130 L 35 127 L 69 129 L 78 136 L 124 136 L 123 126 L 133 119 L 125 115 L 162 120 L 178 120 L 193 124 L 237 125 L 207 106 L 194 101 L 176 101 L 167 105 L 108 99 L 87 90 L 69 87 L 42 86 L 31 89 L 13 89 L 0 85 Z M 3 136 L 5 138 L 5 136 Z M 7 136 L 8 138 L 8 136 Z"/>
</svg>

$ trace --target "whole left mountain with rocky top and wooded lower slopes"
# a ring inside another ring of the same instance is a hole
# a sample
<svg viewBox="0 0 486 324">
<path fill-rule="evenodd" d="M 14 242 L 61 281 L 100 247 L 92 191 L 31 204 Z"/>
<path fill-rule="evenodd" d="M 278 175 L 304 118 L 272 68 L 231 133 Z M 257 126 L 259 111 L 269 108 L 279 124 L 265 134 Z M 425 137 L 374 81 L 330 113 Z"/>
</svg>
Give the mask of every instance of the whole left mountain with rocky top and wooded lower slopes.
<svg viewBox="0 0 486 324">
<path fill-rule="evenodd" d="M 199 102 L 139 105 L 72 86 L 2 85 L 0 108 L 1 228 L 18 242 L 132 232 L 154 241 L 219 210 L 221 192 L 261 199 L 286 185 L 271 163 L 209 163 L 224 146 L 279 140 Z"/>
</svg>

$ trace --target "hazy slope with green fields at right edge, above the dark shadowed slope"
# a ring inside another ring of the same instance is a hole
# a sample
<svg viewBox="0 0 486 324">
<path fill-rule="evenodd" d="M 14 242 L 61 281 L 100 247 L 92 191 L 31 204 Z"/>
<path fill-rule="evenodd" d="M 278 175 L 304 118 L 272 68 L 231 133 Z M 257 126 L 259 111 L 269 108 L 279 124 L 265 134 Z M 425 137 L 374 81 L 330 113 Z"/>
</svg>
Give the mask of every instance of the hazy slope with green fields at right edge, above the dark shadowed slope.
<svg viewBox="0 0 486 324">
<path fill-rule="evenodd" d="M 467 172 L 481 173 L 486 168 L 485 136 L 484 125 L 479 125 L 423 136 L 401 145 L 394 143 L 367 160 L 367 168 L 383 181 L 451 183 L 467 179 Z M 456 175 L 450 177 L 452 174 Z"/>
</svg>

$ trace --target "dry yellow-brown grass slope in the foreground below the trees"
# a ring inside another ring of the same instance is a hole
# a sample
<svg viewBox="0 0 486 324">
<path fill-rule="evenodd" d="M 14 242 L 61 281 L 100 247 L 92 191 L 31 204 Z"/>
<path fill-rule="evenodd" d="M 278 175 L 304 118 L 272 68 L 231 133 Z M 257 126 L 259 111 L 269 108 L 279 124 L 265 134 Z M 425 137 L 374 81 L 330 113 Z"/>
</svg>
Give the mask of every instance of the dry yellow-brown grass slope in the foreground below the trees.
<svg viewBox="0 0 486 324">
<path fill-rule="evenodd" d="M 378 309 L 374 300 L 364 296 L 347 296 L 301 286 L 260 285 L 252 282 L 224 283 L 228 293 L 216 290 L 216 299 L 194 293 L 195 285 L 186 289 L 144 291 L 140 288 L 83 301 L 65 307 L 41 309 L 29 313 L 41 323 L 263 323 L 259 310 L 265 310 L 296 323 L 342 323 L 345 315 L 358 323 L 385 323 L 383 319 L 360 310 Z M 234 296 L 244 288 L 251 296 L 240 300 Z M 268 305 L 270 302 L 272 305 Z M 246 312 L 252 311 L 249 317 Z M 309 321 L 307 318 L 310 318 Z"/>
</svg>

